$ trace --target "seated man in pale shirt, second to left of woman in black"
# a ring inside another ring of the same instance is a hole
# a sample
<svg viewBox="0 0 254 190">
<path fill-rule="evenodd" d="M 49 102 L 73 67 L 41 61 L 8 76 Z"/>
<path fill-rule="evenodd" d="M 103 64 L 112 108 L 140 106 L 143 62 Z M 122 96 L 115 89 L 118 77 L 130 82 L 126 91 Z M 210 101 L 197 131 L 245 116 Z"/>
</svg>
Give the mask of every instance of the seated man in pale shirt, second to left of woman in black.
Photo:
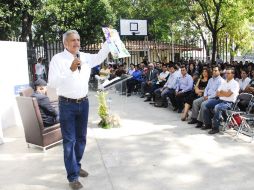
<svg viewBox="0 0 254 190">
<path fill-rule="evenodd" d="M 155 90 L 155 106 L 159 105 L 156 104 L 156 100 L 161 98 L 161 105 L 157 107 L 168 107 L 168 102 L 167 102 L 167 96 L 169 96 L 170 101 L 172 103 L 173 107 L 176 107 L 176 102 L 175 102 L 175 89 L 176 89 L 176 84 L 177 84 L 177 79 L 178 75 L 175 72 L 175 66 L 173 64 L 169 65 L 169 77 L 166 82 L 166 84 L 157 90 Z"/>
</svg>

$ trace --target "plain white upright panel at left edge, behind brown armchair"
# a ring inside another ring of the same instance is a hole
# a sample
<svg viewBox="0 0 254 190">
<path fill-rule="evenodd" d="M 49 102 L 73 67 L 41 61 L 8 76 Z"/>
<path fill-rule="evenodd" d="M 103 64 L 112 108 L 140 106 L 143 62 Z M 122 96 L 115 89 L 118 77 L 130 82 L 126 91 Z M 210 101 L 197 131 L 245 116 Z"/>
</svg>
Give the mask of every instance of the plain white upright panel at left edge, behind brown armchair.
<svg viewBox="0 0 254 190">
<path fill-rule="evenodd" d="M 0 41 L 0 138 L 2 129 L 22 126 L 16 96 L 29 84 L 27 46 Z"/>
</svg>

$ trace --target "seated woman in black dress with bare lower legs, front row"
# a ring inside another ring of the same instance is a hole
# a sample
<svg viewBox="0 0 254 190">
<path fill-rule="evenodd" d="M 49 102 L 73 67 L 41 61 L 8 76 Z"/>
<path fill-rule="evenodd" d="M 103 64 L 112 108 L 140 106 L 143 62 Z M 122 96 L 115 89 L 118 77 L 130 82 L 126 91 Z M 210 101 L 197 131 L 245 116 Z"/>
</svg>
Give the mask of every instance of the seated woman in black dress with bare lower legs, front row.
<svg viewBox="0 0 254 190">
<path fill-rule="evenodd" d="M 189 94 L 188 97 L 185 98 L 184 109 L 181 116 L 182 121 L 185 121 L 188 118 L 188 112 L 192 106 L 193 101 L 197 98 L 203 97 L 209 78 L 209 71 L 207 68 L 204 68 L 200 78 L 195 85 L 194 92 L 192 92 L 191 94 Z"/>
</svg>

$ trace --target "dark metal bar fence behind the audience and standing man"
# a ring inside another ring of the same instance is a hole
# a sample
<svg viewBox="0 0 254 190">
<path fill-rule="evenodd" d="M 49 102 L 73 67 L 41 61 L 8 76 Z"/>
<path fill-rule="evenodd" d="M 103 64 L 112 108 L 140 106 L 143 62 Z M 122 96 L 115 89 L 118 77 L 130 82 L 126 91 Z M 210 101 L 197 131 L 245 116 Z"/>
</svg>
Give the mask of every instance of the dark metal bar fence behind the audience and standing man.
<svg viewBox="0 0 254 190">
<path fill-rule="evenodd" d="M 131 57 L 116 60 L 116 62 L 125 62 L 127 64 L 138 64 L 144 59 L 149 62 L 177 62 L 179 60 L 188 60 L 190 58 L 205 61 L 207 58 L 206 55 L 211 54 L 211 46 L 207 46 L 207 48 L 205 48 L 202 40 L 178 40 L 174 42 L 125 40 L 123 42 L 126 48 L 129 50 Z M 211 44 L 211 42 L 208 41 L 208 44 Z M 100 50 L 101 46 L 101 43 L 88 44 L 84 46 L 81 45 L 80 51 L 87 53 L 97 53 Z M 28 62 L 30 80 L 32 81 L 35 78 L 34 65 L 36 64 L 36 60 L 39 57 L 44 59 L 44 64 L 48 70 L 48 66 L 53 55 L 63 51 L 63 49 L 64 47 L 61 41 L 54 43 L 43 42 L 40 46 L 29 47 Z M 219 39 L 217 54 L 220 55 L 223 61 L 229 60 L 228 49 L 227 39 Z"/>
</svg>

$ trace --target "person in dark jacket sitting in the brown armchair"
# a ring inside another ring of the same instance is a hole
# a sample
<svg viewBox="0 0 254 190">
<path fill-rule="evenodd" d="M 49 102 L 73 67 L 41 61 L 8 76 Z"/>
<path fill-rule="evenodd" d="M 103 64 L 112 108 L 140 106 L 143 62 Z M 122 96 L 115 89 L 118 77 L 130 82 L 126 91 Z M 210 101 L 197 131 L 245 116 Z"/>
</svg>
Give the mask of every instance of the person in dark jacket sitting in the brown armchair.
<svg viewBox="0 0 254 190">
<path fill-rule="evenodd" d="M 38 79 L 34 82 L 34 93 L 32 97 L 35 97 L 41 112 L 42 121 L 44 127 L 50 127 L 56 123 L 59 123 L 58 112 L 51 105 L 47 94 L 47 83 L 43 79 Z"/>
</svg>

